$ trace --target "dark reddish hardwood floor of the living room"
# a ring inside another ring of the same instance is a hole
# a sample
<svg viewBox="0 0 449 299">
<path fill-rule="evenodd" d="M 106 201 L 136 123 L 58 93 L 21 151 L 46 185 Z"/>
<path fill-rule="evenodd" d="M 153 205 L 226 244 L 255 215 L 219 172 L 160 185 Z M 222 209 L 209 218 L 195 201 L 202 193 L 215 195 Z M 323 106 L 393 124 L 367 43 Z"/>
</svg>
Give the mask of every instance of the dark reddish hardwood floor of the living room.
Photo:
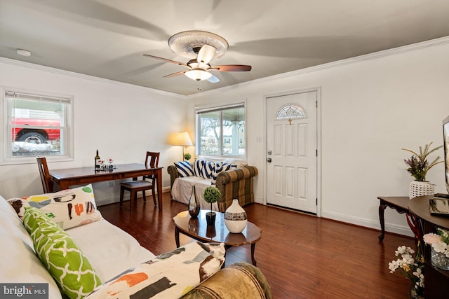
<svg viewBox="0 0 449 299">
<path fill-rule="evenodd" d="M 163 211 L 154 207 L 151 197 L 147 203 L 139 198 L 131 212 L 128 204 L 98 209 L 154 254 L 175 249 L 172 218 L 187 209 L 185 204 L 170 200 L 170 193 L 163 194 Z M 396 259 L 398 246 L 416 249 L 413 238 L 387 233 L 379 242 L 377 230 L 262 204 L 244 209 L 249 221 L 262 229 L 255 259 L 273 298 L 408 298 L 408 281 L 390 274 L 388 263 Z M 187 242 L 192 239 L 180 235 L 181 245 Z M 241 260 L 251 263 L 249 245 L 227 251 L 227 265 Z"/>
</svg>

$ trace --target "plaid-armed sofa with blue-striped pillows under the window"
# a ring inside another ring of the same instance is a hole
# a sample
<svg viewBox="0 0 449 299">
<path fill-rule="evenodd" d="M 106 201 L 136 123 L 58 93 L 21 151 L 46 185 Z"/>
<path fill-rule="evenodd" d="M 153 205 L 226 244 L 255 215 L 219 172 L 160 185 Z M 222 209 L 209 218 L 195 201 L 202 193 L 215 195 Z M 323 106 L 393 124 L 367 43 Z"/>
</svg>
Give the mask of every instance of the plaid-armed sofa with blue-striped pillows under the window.
<svg viewBox="0 0 449 299">
<path fill-rule="evenodd" d="M 204 201 L 203 191 L 209 186 L 220 190 L 220 198 L 212 206 L 214 211 L 225 212 L 234 198 L 244 206 L 254 202 L 253 178 L 257 168 L 244 160 L 199 157 L 194 162 L 175 162 L 167 167 L 170 174 L 170 192 L 173 200 L 188 204 L 192 187 L 200 200 L 201 209 L 210 209 Z"/>
</svg>

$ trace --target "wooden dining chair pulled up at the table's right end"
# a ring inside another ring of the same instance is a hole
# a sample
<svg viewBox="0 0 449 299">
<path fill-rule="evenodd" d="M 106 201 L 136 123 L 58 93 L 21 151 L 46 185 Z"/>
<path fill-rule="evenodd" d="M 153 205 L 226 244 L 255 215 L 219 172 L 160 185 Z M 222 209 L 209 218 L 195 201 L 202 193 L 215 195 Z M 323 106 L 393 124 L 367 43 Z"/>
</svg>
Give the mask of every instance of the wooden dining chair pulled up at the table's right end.
<svg viewBox="0 0 449 299">
<path fill-rule="evenodd" d="M 156 168 L 159 165 L 159 153 L 147 151 L 147 156 L 145 157 L 145 166 L 148 168 Z M 151 181 L 147 181 L 147 179 Z M 152 190 L 153 202 L 156 206 L 156 176 L 149 175 L 144 176 L 142 180 L 137 181 L 126 181 L 120 183 L 120 207 L 123 207 L 123 195 L 126 191 L 130 192 L 130 203 L 129 210 L 131 211 L 131 205 L 135 200 L 137 200 L 138 192 L 142 191 L 143 201 L 147 202 L 147 197 L 145 195 L 146 190 Z"/>
</svg>

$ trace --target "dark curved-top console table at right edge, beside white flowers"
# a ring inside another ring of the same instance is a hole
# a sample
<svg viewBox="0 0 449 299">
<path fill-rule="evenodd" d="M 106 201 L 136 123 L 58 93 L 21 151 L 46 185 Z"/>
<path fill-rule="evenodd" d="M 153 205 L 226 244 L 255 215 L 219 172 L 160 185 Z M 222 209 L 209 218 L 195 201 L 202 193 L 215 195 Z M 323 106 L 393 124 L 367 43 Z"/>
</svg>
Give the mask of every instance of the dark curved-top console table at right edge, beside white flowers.
<svg viewBox="0 0 449 299">
<path fill-rule="evenodd" d="M 410 213 L 415 215 L 420 223 L 421 234 L 436 233 L 436 228 L 449 230 L 449 218 L 447 216 L 433 216 L 430 214 L 429 199 L 432 196 L 415 197 L 408 203 Z M 421 235 L 422 236 L 422 235 Z M 420 239 L 422 241 L 422 239 Z M 429 245 L 421 242 L 424 252 L 424 277 L 426 299 L 448 298 L 449 271 L 436 269 L 431 264 Z"/>
</svg>

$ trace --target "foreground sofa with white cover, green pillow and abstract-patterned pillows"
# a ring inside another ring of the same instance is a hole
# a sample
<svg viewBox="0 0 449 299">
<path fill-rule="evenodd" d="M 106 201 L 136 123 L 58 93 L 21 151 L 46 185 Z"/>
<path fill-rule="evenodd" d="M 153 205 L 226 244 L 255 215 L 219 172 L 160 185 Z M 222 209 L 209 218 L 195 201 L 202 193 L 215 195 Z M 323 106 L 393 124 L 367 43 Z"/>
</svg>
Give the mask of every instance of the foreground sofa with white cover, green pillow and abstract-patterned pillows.
<svg viewBox="0 0 449 299">
<path fill-rule="evenodd" d="M 0 298 L 271 298 L 257 267 L 222 268 L 224 244 L 192 242 L 155 256 L 102 218 L 91 185 L 0 196 L 0 225 Z"/>
</svg>

